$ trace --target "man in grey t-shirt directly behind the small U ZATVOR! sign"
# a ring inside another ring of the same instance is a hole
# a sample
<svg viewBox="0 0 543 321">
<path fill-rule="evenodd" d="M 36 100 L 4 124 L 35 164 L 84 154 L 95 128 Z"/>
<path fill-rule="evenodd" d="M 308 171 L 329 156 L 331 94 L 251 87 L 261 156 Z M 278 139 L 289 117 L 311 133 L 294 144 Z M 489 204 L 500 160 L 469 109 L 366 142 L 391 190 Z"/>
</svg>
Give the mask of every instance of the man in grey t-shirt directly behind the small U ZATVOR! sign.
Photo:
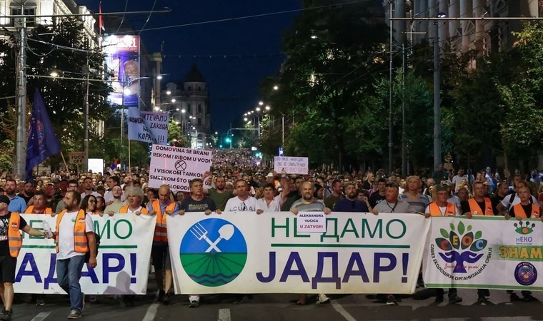
<svg viewBox="0 0 543 321">
<path fill-rule="evenodd" d="M 305 181 L 300 185 L 300 193 L 302 193 L 302 198 L 294 202 L 290 211 L 294 215 L 298 215 L 300 211 L 302 212 L 324 212 L 324 214 L 330 214 L 332 210 L 326 207 L 322 200 L 314 198 L 315 187 L 313 183 Z M 307 295 L 299 295 L 296 302 L 297 305 L 305 305 L 307 302 Z M 329 303 L 330 298 L 327 297 L 324 293 L 317 295 L 317 304 Z"/>
</svg>

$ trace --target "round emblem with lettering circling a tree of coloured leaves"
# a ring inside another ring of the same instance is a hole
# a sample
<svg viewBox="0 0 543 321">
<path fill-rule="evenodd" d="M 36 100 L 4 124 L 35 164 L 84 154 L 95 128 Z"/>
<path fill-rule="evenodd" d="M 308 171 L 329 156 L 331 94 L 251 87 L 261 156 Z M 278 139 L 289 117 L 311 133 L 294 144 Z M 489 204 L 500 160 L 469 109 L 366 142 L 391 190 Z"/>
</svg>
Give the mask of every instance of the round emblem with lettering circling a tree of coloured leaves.
<svg viewBox="0 0 543 321">
<path fill-rule="evenodd" d="M 487 248 L 488 243 L 482 238 L 482 231 L 474 232 L 472 225 L 466 227 L 462 222 L 459 222 L 457 226 L 451 223 L 449 228 L 449 230 L 444 228 L 439 230 L 443 238 L 435 239 L 437 249 L 434 244 L 430 246 L 433 263 L 443 275 L 451 279 L 469 280 L 487 267 L 492 256 L 492 248 L 488 248 L 486 260 L 481 260 L 484 255 L 481 252 Z M 439 257 L 444 260 L 444 266 L 439 264 L 436 250 Z M 453 269 L 453 273 L 469 273 L 469 275 L 453 276 L 448 272 L 450 269 Z"/>
</svg>

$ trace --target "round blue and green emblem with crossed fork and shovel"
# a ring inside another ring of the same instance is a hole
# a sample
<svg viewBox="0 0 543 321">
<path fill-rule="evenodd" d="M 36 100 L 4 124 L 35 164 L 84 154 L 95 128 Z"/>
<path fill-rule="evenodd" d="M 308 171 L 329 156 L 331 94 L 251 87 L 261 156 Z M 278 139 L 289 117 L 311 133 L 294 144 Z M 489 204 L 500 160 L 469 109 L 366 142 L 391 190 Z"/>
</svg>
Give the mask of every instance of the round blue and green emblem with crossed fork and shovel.
<svg viewBox="0 0 543 321">
<path fill-rule="evenodd" d="M 185 233 L 179 256 L 194 282 L 218 287 L 241 273 L 247 260 L 247 244 L 235 225 L 221 218 L 207 218 Z"/>
</svg>

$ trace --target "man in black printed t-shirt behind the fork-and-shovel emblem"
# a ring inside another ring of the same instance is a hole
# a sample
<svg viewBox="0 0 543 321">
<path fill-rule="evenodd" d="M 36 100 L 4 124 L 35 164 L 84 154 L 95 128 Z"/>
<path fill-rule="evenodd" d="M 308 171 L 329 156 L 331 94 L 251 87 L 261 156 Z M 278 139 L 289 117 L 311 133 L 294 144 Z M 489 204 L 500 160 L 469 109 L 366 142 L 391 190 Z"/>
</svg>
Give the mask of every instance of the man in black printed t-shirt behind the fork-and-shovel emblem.
<svg viewBox="0 0 543 321">
<path fill-rule="evenodd" d="M 185 198 L 179 205 L 179 214 L 184 215 L 187 212 L 204 212 L 206 215 L 211 212 L 221 213 L 221 210 L 216 208 L 214 200 L 204 195 L 204 180 L 194 178 L 189 183 L 191 189 L 191 197 Z M 189 296 L 189 307 L 199 307 L 200 295 Z"/>
</svg>

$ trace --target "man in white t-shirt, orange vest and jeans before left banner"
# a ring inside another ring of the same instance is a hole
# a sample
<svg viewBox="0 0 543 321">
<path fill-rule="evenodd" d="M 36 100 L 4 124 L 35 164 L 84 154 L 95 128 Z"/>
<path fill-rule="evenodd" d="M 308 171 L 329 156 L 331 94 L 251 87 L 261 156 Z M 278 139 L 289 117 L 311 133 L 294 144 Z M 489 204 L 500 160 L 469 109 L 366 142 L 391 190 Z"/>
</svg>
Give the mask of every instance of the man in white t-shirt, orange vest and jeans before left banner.
<svg viewBox="0 0 543 321">
<path fill-rule="evenodd" d="M 96 267 L 96 238 L 91 215 L 79 210 L 81 194 L 70 190 L 64 196 L 64 208 L 56 217 L 56 277 L 62 290 L 70 297 L 71 312 L 68 319 L 79 319 L 83 310 L 83 293 L 79 279 L 90 252 L 89 267 Z"/>
</svg>

